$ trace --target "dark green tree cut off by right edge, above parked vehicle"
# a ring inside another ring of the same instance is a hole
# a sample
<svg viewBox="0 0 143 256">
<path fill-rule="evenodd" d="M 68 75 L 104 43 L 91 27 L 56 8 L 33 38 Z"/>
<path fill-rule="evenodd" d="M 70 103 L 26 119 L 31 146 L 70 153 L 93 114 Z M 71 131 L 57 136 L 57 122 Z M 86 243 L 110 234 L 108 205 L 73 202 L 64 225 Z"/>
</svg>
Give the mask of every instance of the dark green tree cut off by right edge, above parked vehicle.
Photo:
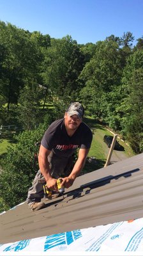
<svg viewBox="0 0 143 256">
<path fill-rule="evenodd" d="M 123 131 L 136 153 L 142 152 L 143 141 L 143 51 L 133 53 L 124 68 L 126 112 Z"/>
</svg>

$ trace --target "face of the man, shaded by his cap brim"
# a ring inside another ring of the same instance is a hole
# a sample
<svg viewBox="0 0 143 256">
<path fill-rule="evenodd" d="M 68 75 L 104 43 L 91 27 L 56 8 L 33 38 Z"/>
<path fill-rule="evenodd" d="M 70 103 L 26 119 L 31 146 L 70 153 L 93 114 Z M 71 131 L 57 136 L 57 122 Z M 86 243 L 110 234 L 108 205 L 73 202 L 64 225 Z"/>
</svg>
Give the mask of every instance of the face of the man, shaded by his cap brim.
<svg viewBox="0 0 143 256">
<path fill-rule="evenodd" d="M 79 118 L 77 115 L 69 116 L 68 113 L 65 113 L 64 115 L 64 124 L 66 126 L 66 129 L 69 130 L 77 130 L 79 125 L 82 122 L 82 118 Z"/>
</svg>

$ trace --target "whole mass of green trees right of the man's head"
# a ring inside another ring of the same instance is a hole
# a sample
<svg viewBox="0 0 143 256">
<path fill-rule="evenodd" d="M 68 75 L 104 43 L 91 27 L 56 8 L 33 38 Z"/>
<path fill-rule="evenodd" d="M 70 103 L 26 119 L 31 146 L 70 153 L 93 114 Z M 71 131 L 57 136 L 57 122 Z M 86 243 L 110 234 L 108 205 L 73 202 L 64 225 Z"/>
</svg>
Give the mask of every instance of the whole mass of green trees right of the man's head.
<svg viewBox="0 0 143 256">
<path fill-rule="evenodd" d="M 79 77 L 85 84 L 80 99 L 95 118 L 121 132 L 139 153 L 143 127 L 142 50 L 131 51 L 132 33 L 124 34 L 122 49 L 117 41 L 110 36 L 105 42 L 98 42 L 93 58 Z"/>
</svg>

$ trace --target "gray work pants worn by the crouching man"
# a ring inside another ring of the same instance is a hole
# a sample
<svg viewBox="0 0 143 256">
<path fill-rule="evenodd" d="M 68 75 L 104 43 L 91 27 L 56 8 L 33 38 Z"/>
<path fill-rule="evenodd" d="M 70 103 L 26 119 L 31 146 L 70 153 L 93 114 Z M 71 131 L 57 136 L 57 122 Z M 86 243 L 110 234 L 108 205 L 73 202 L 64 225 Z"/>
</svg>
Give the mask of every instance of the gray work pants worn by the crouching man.
<svg viewBox="0 0 143 256">
<path fill-rule="evenodd" d="M 49 165 L 51 170 L 51 176 L 54 179 L 59 177 L 66 177 L 70 175 L 73 168 L 73 156 L 71 157 L 57 157 L 52 152 L 49 157 Z M 40 202 L 43 198 L 43 184 L 46 184 L 45 178 L 41 174 L 40 170 L 36 173 L 36 176 L 33 180 L 31 188 L 28 190 L 27 194 L 27 204 L 31 205 L 33 202 Z"/>
</svg>

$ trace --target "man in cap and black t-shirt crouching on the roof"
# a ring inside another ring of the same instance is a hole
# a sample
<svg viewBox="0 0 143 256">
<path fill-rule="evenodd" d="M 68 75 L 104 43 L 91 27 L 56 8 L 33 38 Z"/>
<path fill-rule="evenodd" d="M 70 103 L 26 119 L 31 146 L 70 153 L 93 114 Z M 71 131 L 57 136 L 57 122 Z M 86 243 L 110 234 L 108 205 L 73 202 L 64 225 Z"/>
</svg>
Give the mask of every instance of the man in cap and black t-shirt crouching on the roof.
<svg viewBox="0 0 143 256">
<path fill-rule="evenodd" d="M 65 112 L 64 118 L 54 121 L 45 132 L 38 155 L 40 170 L 27 195 L 27 204 L 32 211 L 45 206 L 41 202 L 43 184 L 47 184 L 50 190 L 57 192 L 57 179 L 62 177 L 61 185 L 70 188 L 84 167 L 93 134 L 82 122 L 83 115 L 82 104 L 73 102 Z M 77 148 L 79 154 L 73 166 L 73 153 Z"/>
</svg>

